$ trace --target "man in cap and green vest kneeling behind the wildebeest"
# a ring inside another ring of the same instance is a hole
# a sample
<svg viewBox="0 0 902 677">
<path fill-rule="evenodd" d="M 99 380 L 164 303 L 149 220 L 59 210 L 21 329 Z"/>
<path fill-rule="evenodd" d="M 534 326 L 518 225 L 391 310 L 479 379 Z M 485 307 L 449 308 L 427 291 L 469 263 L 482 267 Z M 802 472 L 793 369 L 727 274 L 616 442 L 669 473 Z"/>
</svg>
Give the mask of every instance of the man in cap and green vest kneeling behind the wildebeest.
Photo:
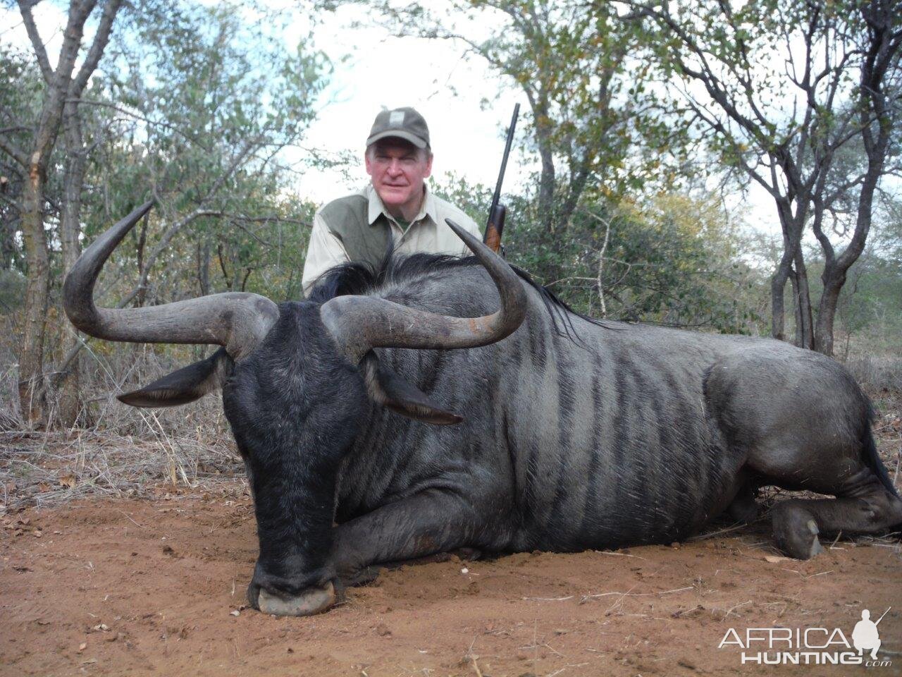
<svg viewBox="0 0 902 677">
<path fill-rule="evenodd" d="M 333 265 L 346 261 L 378 265 L 390 243 L 401 254 L 469 255 L 446 218 L 481 237 L 472 218 L 428 190 L 429 129 L 413 108 L 383 110 L 376 116 L 364 162 L 370 185 L 329 202 L 313 219 L 301 277 L 305 296 Z"/>
</svg>

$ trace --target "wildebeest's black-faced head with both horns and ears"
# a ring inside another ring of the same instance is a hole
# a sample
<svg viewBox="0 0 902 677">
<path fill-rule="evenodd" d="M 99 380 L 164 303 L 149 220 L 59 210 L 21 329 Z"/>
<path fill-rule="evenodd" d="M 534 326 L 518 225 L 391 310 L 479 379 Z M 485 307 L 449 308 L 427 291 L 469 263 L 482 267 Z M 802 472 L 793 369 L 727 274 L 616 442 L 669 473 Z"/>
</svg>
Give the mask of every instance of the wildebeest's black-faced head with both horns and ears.
<svg viewBox="0 0 902 677">
<path fill-rule="evenodd" d="M 327 608 L 335 598 L 330 551 L 336 474 L 367 398 L 421 421 L 462 420 L 382 367 L 373 348 L 474 348 L 501 340 L 526 313 L 520 279 L 449 221 L 492 276 L 499 311 L 453 318 L 354 295 L 277 305 L 245 292 L 145 308 L 97 308 L 93 291 L 100 269 L 151 206 L 135 209 L 78 259 L 63 286 L 69 320 L 107 340 L 222 346 L 119 399 L 172 406 L 223 388 L 226 417 L 253 490 L 260 541 L 248 598 L 278 615 Z"/>
</svg>

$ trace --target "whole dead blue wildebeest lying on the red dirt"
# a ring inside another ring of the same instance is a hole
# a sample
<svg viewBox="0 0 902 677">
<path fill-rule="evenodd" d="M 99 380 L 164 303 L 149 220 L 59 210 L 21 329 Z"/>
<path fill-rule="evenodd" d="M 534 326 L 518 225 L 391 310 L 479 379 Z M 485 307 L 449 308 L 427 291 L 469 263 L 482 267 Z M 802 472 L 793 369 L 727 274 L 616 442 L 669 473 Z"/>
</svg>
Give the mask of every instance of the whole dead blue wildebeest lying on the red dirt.
<svg viewBox="0 0 902 677">
<path fill-rule="evenodd" d="M 818 533 L 902 523 L 868 399 L 823 355 L 589 320 L 458 229 L 476 258 L 345 264 L 309 301 L 97 309 L 97 274 L 148 209 L 87 248 L 66 311 L 99 338 L 223 347 L 121 399 L 167 406 L 222 387 L 253 490 L 248 598 L 262 611 L 315 613 L 340 581 L 453 549 L 677 541 L 723 511 L 754 515 L 763 485 L 836 496 L 773 508 L 796 558 L 820 550 Z"/>
</svg>

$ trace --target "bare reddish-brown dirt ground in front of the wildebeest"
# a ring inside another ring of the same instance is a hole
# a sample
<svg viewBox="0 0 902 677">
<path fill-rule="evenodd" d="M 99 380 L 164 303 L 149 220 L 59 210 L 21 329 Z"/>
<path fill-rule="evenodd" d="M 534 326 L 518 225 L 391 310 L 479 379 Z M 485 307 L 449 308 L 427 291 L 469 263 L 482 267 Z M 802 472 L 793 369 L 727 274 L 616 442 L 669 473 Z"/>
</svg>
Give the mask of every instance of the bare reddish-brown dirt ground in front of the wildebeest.
<svg viewBox="0 0 902 677">
<path fill-rule="evenodd" d="M 745 529 L 678 546 L 405 566 L 308 618 L 245 609 L 250 499 L 85 501 L 0 530 L 4 675 L 851 674 L 741 665 L 728 628 L 851 629 L 870 608 L 902 674 L 898 543 L 776 559 Z M 766 560 L 770 557 L 771 561 Z M 237 614 L 235 612 L 237 611 Z"/>
</svg>

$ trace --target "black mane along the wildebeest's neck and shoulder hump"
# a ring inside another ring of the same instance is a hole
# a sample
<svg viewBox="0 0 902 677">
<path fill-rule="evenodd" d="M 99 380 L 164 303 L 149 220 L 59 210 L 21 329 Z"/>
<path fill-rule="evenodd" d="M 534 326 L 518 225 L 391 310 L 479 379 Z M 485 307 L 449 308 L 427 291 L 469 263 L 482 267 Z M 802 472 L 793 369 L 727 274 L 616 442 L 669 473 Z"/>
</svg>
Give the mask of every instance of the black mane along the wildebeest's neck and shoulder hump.
<svg viewBox="0 0 902 677">
<path fill-rule="evenodd" d="M 375 292 L 388 284 L 414 282 L 443 271 L 480 265 L 482 264 L 475 256 L 461 258 L 444 254 L 400 255 L 397 252 L 389 252 L 378 266 L 349 262 L 329 268 L 314 283 L 308 301 L 325 303 L 336 296 L 364 295 Z M 516 265 L 510 265 L 523 282 L 538 292 L 559 336 L 578 338 L 570 317 L 571 314 L 599 327 L 608 326 L 601 320 L 595 320 L 588 315 L 574 311 L 565 301 L 558 299 L 554 292 L 533 280 L 525 270 Z"/>
</svg>

